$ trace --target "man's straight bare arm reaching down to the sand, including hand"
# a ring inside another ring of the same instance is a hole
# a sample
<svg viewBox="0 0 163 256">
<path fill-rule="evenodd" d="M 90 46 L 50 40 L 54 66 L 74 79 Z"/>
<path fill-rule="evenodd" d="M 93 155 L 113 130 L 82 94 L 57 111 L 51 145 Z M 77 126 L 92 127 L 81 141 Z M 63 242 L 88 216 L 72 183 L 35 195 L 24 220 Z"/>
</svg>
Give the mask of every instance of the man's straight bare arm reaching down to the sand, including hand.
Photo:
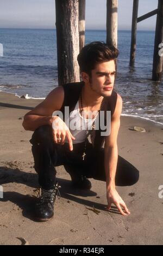
<svg viewBox="0 0 163 256">
<path fill-rule="evenodd" d="M 111 118 L 111 133 L 105 138 L 105 175 L 106 175 L 106 198 L 108 200 L 107 210 L 110 209 L 111 203 L 114 203 L 122 215 L 126 215 L 122 208 L 129 214 L 126 204 L 117 193 L 115 188 L 115 175 L 118 159 L 117 136 L 120 128 L 120 116 L 122 112 L 122 98 L 117 95 L 115 112 Z M 121 208 L 122 207 L 122 208 Z"/>
</svg>

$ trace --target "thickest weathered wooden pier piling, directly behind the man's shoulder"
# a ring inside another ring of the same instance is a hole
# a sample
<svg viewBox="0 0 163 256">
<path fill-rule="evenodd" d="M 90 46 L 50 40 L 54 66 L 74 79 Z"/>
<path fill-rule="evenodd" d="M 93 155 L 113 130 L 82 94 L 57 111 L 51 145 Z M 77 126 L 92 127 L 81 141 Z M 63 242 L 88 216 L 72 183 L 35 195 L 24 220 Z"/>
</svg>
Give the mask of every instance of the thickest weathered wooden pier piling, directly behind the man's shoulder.
<svg viewBox="0 0 163 256">
<path fill-rule="evenodd" d="M 80 81 L 78 0 L 55 0 L 57 29 L 58 83 Z"/>
</svg>

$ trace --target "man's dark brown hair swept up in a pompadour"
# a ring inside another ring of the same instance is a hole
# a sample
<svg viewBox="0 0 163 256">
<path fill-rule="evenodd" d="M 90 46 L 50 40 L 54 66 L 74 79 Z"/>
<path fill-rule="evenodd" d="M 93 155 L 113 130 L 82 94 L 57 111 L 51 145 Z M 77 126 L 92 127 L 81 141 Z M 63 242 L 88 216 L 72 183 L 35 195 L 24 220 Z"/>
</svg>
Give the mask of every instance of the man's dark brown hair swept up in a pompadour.
<svg viewBox="0 0 163 256">
<path fill-rule="evenodd" d="M 95 41 L 85 45 L 78 55 L 78 64 L 80 72 L 85 72 L 91 76 L 91 70 L 99 62 L 115 61 L 118 57 L 119 51 L 113 45 L 107 45 L 104 42 Z"/>
</svg>

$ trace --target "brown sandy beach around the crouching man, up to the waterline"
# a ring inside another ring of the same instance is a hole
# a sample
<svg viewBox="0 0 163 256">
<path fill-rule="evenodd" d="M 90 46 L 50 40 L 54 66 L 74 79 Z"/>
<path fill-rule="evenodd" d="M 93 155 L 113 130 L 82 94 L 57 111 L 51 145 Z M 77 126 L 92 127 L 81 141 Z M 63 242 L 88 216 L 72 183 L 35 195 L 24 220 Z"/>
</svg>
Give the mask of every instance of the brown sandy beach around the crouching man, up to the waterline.
<svg viewBox="0 0 163 256">
<path fill-rule="evenodd" d="M 162 245 L 163 126 L 140 118 L 121 117 L 118 153 L 140 171 L 134 186 L 117 187 L 131 212 L 118 214 L 115 206 L 105 211 L 105 182 L 91 179 L 90 192 L 72 189 L 70 176 L 57 168 L 61 185 L 52 221 L 34 222 L 31 210 L 38 187 L 23 116 L 41 100 L 22 99 L 0 92 L 0 245 Z M 143 127 L 145 133 L 132 130 Z M 92 211 L 93 207 L 98 212 Z"/>
</svg>

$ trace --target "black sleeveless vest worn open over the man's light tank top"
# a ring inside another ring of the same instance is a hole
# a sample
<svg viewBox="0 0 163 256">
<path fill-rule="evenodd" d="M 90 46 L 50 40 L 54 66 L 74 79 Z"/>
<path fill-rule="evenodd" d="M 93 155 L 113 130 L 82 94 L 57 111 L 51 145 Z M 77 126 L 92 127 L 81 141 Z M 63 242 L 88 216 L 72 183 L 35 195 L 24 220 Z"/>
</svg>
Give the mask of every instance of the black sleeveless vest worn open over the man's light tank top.
<svg viewBox="0 0 163 256">
<path fill-rule="evenodd" d="M 79 100 L 80 93 L 82 91 L 83 86 L 84 86 L 83 81 L 62 85 L 62 87 L 64 88 L 65 95 L 64 95 L 64 102 L 61 106 L 60 111 L 63 114 L 64 121 L 65 121 L 65 116 L 64 116 L 65 106 L 69 106 L 70 113 L 71 111 L 74 110 Z M 106 114 L 106 110 L 111 111 L 111 116 L 112 116 L 115 111 L 116 102 L 117 102 L 117 93 L 116 91 L 112 90 L 111 96 L 104 97 L 101 110 L 105 111 L 104 114 Z M 105 125 L 106 125 L 106 118 L 105 118 Z M 104 132 L 104 130 L 102 131 L 100 128 L 99 130 L 92 130 L 92 137 L 94 138 L 93 139 L 94 148 L 101 148 L 103 146 L 104 136 L 101 136 L 101 132 Z"/>
</svg>

